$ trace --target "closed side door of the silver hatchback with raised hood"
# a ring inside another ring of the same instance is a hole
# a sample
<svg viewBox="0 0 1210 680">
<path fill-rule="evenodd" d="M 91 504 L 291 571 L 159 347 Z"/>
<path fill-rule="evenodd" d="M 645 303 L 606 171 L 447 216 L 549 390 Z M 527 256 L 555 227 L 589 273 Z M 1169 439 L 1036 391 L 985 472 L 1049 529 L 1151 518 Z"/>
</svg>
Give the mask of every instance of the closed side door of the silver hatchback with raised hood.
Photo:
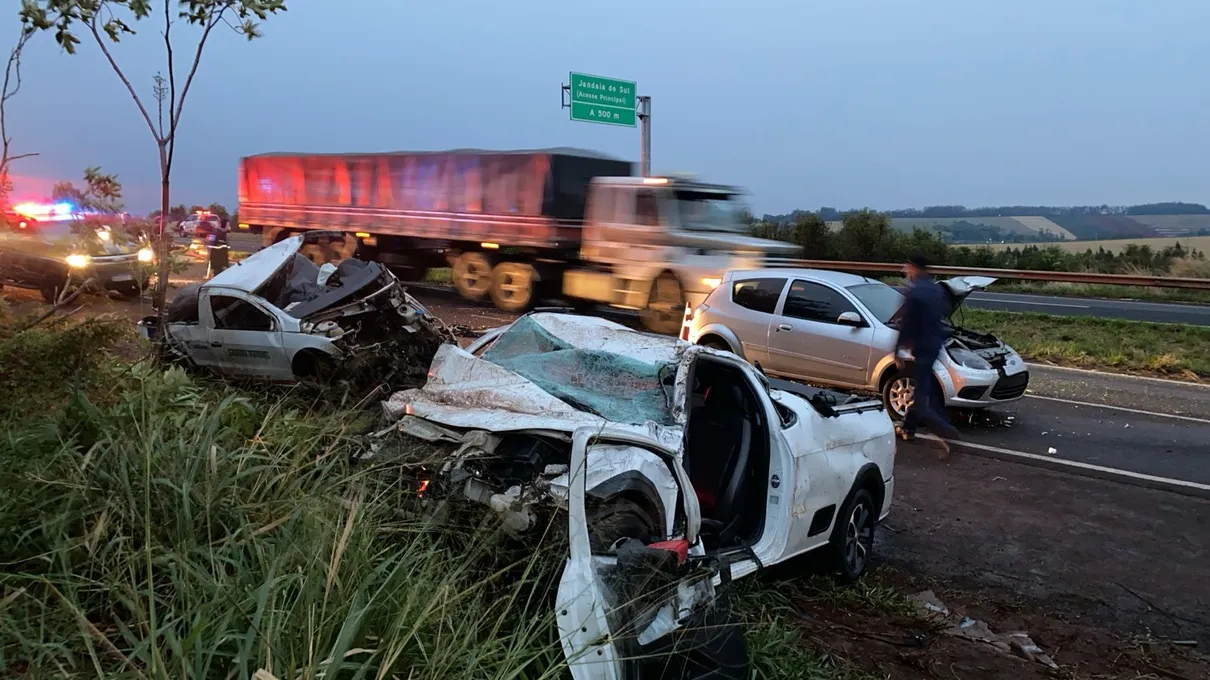
<svg viewBox="0 0 1210 680">
<path fill-rule="evenodd" d="M 841 315 L 857 315 L 845 323 Z M 768 368 L 776 373 L 843 386 L 865 385 L 874 328 L 836 288 L 795 278 L 768 329 Z"/>
</svg>

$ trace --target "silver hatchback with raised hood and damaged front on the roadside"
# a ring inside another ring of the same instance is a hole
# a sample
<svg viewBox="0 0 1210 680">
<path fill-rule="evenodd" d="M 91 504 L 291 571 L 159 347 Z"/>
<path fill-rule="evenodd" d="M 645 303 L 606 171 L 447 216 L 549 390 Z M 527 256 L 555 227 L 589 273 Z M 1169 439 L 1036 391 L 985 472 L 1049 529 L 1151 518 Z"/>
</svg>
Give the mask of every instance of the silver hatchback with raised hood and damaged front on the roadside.
<svg viewBox="0 0 1210 680">
<path fill-rule="evenodd" d="M 950 294 L 950 336 L 933 375 L 949 407 L 985 408 L 1025 396 L 1030 371 L 995 335 L 961 328 L 953 312 L 995 278 L 941 281 Z M 911 404 L 910 369 L 895 369 L 897 317 L 903 294 L 881 281 L 837 271 L 730 271 L 685 313 L 681 339 L 730 350 L 770 375 L 882 394 L 901 419 Z"/>
</svg>

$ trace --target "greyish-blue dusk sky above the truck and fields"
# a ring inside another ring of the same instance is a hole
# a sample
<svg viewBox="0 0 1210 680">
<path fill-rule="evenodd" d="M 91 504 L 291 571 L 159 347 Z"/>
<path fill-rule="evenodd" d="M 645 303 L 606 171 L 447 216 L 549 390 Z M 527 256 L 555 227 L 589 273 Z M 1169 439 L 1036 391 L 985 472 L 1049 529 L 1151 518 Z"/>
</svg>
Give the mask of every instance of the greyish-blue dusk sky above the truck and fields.
<svg viewBox="0 0 1210 680">
<path fill-rule="evenodd" d="M 17 5 L 12 0 L 8 5 Z M 655 172 L 737 184 L 754 212 L 1210 201 L 1210 1 L 290 0 L 207 47 L 173 203 L 234 207 L 265 151 L 580 146 L 639 160 L 638 128 L 569 121 L 567 71 L 652 97 Z M 17 10 L 0 15 L 7 52 Z M 115 50 L 149 105 L 160 25 Z M 182 57 L 196 31 L 179 28 Z M 116 172 L 157 207 L 155 144 L 91 36 L 52 34 L 10 102 L 18 191 Z"/>
</svg>

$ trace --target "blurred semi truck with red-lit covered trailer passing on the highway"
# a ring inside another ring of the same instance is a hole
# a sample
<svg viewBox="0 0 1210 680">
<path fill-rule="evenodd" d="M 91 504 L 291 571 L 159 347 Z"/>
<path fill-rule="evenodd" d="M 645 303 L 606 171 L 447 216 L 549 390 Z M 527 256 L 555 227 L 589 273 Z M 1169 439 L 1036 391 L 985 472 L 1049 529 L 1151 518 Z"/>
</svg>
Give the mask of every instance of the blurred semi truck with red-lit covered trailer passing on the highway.
<svg viewBox="0 0 1210 680">
<path fill-rule="evenodd" d="M 563 296 L 635 310 L 680 330 L 730 269 L 797 255 L 747 234 L 742 192 L 686 177 L 635 177 L 581 149 L 261 154 L 240 161 L 240 221 L 266 246 L 307 230 L 317 264 L 356 257 L 420 281 L 449 266 L 467 300 L 509 312 Z"/>
</svg>

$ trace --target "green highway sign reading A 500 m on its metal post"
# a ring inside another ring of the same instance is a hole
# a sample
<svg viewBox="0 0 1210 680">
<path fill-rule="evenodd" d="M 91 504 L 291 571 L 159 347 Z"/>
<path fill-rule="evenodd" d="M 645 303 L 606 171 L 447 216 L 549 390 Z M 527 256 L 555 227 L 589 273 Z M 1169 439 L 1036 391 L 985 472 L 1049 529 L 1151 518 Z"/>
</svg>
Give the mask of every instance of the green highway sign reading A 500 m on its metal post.
<svg viewBox="0 0 1210 680">
<path fill-rule="evenodd" d="M 643 122 L 639 139 L 640 173 L 651 174 L 651 97 L 639 97 L 634 82 L 571 71 L 570 85 L 563 91 L 570 102 L 571 120 L 618 127 L 635 127 Z"/>
</svg>

